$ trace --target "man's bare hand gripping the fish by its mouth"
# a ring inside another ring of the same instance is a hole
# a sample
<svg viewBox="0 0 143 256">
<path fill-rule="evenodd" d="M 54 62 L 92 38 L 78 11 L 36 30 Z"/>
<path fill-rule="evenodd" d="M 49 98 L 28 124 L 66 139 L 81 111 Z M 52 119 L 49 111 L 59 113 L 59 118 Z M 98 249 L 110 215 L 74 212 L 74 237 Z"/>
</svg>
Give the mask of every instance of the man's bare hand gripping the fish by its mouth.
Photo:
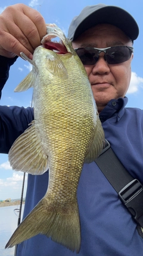
<svg viewBox="0 0 143 256">
<path fill-rule="evenodd" d="M 33 51 L 46 35 L 41 14 L 24 4 L 7 7 L 0 15 L 0 55 L 14 58 L 23 52 L 32 59 Z"/>
</svg>

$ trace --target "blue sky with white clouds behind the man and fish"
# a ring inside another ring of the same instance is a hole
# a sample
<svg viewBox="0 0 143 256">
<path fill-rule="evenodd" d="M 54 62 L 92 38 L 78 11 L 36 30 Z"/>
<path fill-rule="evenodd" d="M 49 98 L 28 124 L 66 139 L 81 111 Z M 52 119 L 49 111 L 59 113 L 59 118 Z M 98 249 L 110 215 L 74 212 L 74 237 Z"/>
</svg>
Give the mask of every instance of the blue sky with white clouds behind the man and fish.
<svg viewBox="0 0 143 256">
<path fill-rule="evenodd" d="M 19 1 L 1 1 L 0 13 L 9 5 L 17 4 Z M 128 107 L 139 107 L 143 109 L 143 1 L 142 0 L 104 0 L 104 4 L 117 5 L 124 8 L 135 18 L 139 25 L 139 37 L 134 42 L 134 58 L 132 61 L 132 79 L 127 96 L 129 98 Z M 67 1 L 67 0 L 24 0 L 23 4 L 29 5 L 38 10 L 45 18 L 46 23 L 57 24 L 67 35 L 67 31 L 74 16 L 78 15 L 86 5 L 98 4 L 94 0 Z M 32 99 L 32 89 L 26 92 L 14 93 L 14 88 L 29 73 L 31 66 L 28 62 L 18 58 L 11 67 L 10 78 L 2 91 L 1 105 L 7 106 L 30 106 Z M 19 198 L 21 195 L 21 183 L 23 173 L 11 170 L 7 155 L 0 154 L 0 200 L 6 198 Z M 27 183 L 27 179 L 26 179 Z"/>
</svg>

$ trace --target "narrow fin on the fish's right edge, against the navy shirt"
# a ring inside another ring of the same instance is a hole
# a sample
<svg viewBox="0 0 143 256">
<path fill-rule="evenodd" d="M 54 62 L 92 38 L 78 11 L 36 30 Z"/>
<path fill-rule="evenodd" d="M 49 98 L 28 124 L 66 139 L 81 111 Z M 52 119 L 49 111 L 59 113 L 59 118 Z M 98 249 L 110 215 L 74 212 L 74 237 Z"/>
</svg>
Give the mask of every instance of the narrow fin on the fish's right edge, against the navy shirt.
<svg viewBox="0 0 143 256">
<path fill-rule="evenodd" d="M 97 116 L 97 127 L 95 128 L 94 140 L 92 141 L 91 148 L 85 157 L 85 163 L 93 162 L 101 153 L 104 146 L 104 131 L 100 122 L 99 116 Z"/>
</svg>

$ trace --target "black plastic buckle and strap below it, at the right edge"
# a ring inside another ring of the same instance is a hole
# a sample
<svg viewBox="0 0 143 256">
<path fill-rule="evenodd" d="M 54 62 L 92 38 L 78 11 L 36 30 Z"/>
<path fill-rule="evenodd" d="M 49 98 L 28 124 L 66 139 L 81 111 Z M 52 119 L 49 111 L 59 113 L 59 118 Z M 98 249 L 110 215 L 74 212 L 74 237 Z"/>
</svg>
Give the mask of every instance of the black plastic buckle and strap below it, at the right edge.
<svg viewBox="0 0 143 256">
<path fill-rule="evenodd" d="M 120 200 L 128 208 L 135 221 L 143 227 L 143 186 L 134 179 L 119 192 Z"/>
</svg>

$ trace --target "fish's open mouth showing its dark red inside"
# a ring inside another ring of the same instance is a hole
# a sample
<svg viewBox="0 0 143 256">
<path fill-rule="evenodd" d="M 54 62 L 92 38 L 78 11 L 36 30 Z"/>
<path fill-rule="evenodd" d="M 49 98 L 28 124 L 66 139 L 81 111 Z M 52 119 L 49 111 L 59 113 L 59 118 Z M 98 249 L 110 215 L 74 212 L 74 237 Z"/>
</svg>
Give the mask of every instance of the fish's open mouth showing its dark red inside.
<svg viewBox="0 0 143 256">
<path fill-rule="evenodd" d="M 42 45 L 45 49 L 48 50 L 52 50 L 53 52 L 56 52 L 58 54 L 66 54 L 67 49 L 66 46 L 64 46 L 61 43 L 56 43 L 56 42 L 52 42 L 52 41 L 46 41 L 45 43 L 43 43 Z"/>
</svg>

